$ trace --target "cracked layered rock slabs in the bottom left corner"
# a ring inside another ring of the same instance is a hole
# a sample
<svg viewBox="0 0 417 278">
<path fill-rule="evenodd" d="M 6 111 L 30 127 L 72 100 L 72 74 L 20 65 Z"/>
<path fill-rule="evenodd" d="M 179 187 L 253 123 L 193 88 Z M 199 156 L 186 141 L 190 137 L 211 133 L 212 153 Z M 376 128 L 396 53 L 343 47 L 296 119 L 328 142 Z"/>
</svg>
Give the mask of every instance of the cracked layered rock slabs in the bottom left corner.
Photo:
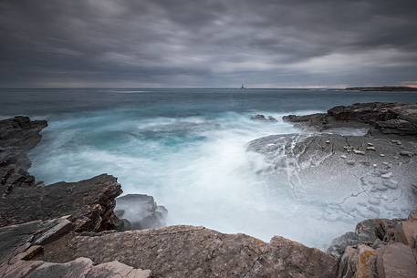
<svg viewBox="0 0 417 278">
<path fill-rule="evenodd" d="M 57 241 L 72 229 L 67 217 L 51 221 L 32 221 L 0 228 L 0 276 L 18 277 L 126 277 L 146 278 L 150 271 L 111 261 L 93 265 L 88 258 L 68 263 L 33 260 L 44 252 L 43 246 Z"/>
</svg>

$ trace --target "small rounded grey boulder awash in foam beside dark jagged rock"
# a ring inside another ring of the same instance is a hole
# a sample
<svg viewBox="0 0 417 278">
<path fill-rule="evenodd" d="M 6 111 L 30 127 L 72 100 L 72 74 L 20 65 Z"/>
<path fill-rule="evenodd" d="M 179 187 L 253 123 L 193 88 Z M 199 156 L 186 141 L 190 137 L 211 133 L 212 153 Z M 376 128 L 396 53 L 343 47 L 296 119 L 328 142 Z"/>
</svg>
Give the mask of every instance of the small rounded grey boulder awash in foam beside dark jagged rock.
<svg viewBox="0 0 417 278">
<path fill-rule="evenodd" d="M 121 219 L 118 231 L 161 228 L 165 226 L 168 214 L 167 209 L 158 206 L 152 196 L 144 194 L 128 194 L 117 198 L 116 210 L 116 215 Z"/>
</svg>

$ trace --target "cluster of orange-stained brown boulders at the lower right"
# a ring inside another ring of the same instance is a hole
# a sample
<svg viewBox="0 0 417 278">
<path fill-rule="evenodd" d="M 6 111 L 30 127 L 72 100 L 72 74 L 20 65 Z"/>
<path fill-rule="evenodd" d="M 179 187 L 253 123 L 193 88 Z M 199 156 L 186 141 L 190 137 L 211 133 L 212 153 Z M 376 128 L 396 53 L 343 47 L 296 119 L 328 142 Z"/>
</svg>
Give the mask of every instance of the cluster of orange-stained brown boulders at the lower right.
<svg viewBox="0 0 417 278">
<path fill-rule="evenodd" d="M 407 220 L 362 221 L 354 233 L 336 239 L 328 252 L 341 254 L 339 278 L 417 277 L 416 213 L 412 212 Z"/>
</svg>

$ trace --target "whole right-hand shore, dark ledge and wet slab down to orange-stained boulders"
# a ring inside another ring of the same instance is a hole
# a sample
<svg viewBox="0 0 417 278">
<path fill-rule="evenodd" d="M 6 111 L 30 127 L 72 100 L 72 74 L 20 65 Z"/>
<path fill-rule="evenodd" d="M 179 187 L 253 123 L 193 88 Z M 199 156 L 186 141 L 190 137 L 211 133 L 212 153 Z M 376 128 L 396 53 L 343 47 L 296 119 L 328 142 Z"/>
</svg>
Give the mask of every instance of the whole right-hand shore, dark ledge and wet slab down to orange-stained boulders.
<svg viewBox="0 0 417 278">
<path fill-rule="evenodd" d="M 280 160 L 273 160 L 276 155 L 272 154 L 276 145 L 284 146 L 280 153 L 294 160 L 300 180 L 318 175 L 320 186 L 334 182 L 350 190 L 359 184 L 333 209 L 350 216 L 375 217 L 360 221 L 355 232 L 331 243 L 328 253 L 340 262 L 338 277 L 417 277 L 417 211 L 401 219 L 403 211 L 411 211 L 417 204 L 417 105 L 354 104 L 284 119 L 324 134 L 258 139 L 249 149 L 266 154 L 266 159 L 277 165 Z M 343 136 L 335 132 L 340 127 L 369 131 L 364 136 Z M 385 214 L 392 211 L 398 218 L 376 218 L 382 210 Z"/>
</svg>

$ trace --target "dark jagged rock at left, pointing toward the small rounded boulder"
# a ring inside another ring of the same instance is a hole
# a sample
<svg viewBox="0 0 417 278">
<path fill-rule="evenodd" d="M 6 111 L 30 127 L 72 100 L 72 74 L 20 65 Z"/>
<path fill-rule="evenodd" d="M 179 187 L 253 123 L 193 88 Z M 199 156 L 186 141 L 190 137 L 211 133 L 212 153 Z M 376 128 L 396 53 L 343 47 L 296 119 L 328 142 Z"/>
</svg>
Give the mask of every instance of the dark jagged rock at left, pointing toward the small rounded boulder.
<svg viewBox="0 0 417 278">
<path fill-rule="evenodd" d="M 78 182 L 15 188 L 0 199 L 0 227 L 70 215 L 78 231 L 114 229 L 113 209 L 120 193 L 117 179 L 107 174 Z"/>
</svg>

